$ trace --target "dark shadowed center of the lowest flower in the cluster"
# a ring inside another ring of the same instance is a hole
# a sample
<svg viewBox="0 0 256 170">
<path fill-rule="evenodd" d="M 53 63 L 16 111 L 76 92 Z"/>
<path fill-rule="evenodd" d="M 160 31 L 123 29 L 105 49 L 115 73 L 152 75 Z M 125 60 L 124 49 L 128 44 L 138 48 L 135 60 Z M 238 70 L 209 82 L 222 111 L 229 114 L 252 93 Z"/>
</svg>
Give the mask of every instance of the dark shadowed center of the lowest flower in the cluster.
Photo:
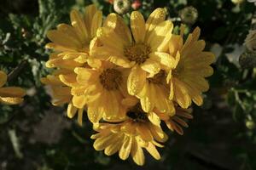
<svg viewBox="0 0 256 170">
<path fill-rule="evenodd" d="M 148 120 L 147 113 L 143 111 L 142 106 L 139 103 L 133 106 L 126 115 L 134 122 L 145 122 Z"/>
</svg>

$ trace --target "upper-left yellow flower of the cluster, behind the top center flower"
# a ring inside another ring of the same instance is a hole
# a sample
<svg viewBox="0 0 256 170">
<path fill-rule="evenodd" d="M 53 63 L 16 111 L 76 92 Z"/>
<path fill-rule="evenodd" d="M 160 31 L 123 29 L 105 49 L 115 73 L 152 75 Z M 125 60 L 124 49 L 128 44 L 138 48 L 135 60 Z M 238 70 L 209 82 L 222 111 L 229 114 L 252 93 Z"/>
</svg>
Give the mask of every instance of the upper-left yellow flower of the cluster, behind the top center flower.
<svg viewBox="0 0 256 170">
<path fill-rule="evenodd" d="M 84 17 L 77 10 L 70 13 L 71 25 L 61 24 L 57 30 L 48 31 L 50 41 L 46 48 L 61 52 L 64 59 L 84 62 L 89 57 L 90 41 L 96 36 L 98 27 L 102 26 L 102 11 L 95 5 L 85 7 Z M 90 63 L 90 62 L 89 62 Z"/>
</svg>

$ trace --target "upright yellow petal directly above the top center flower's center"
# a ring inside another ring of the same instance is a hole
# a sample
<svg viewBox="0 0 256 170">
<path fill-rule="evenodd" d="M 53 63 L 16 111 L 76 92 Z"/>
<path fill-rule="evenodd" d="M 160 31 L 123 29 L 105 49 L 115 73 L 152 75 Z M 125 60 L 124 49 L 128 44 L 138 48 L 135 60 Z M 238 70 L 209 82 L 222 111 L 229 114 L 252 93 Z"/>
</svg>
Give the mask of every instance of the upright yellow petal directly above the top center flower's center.
<svg viewBox="0 0 256 170">
<path fill-rule="evenodd" d="M 131 32 L 135 42 L 143 42 L 145 38 L 145 20 L 143 14 L 138 11 L 131 13 Z"/>
</svg>

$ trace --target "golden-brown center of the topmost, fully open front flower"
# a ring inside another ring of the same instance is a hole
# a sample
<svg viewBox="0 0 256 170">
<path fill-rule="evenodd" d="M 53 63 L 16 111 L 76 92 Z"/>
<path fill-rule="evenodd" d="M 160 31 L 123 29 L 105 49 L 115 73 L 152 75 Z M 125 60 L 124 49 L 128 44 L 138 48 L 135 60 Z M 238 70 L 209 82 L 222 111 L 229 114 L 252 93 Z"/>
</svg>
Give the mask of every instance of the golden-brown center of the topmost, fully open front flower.
<svg viewBox="0 0 256 170">
<path fill-rule="evenodd" d="M 144 43 L 135 43 L 127 46 L 124 49 L 125 57 L 130 61 L 135 61 L 137 64 L 142 64 L 148 59 L 150 48 Z"/>
</svg>

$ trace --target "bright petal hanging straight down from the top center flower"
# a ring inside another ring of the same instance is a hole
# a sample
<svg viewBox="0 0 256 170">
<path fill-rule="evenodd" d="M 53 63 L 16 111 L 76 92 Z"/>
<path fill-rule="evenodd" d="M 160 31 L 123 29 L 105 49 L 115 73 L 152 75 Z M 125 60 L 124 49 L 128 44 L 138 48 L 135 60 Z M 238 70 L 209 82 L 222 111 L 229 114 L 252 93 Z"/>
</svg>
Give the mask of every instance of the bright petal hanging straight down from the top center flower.
<svg viewBox="0 0 256 170">
<path fill-rule="evenodd" d="M 146 71 L 143 71 L 139 65 L 135 65 L 130 72 L 127 80 L 128 93 L 138 94 L 146 82 Z"/>
</svg>

